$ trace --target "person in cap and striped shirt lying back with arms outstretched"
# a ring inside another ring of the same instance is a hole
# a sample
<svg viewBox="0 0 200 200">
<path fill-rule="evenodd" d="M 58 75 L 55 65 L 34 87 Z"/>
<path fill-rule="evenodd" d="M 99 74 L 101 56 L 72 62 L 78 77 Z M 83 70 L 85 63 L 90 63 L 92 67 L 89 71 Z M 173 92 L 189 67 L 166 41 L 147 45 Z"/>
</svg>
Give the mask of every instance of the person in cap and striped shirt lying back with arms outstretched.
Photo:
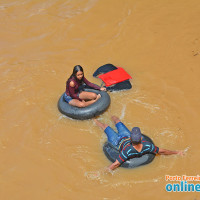
<svg viewBox="0 0 200 200">
<path fill-rule="evenodd" d="M 118 134 L 107 124 L 103 124 L 99 120 L 94 119 L 96 125 L 102 128 L 106 133 L 108 142 L 110 142 L 113 146 L 117 146 L 119 149 L 119 157 L 106 169 L 108 171 L 116 169 L 130 158 L 141 157 L 142 155 L 148 153 L 159 155 L 183 155 L 183 151 L 162 149 L 150 142 L 143 141 L 139 127 L 134 127 L 132 131 L 129 131 L 118 117 L 113 116 L 112 120 L 115 123 Z"/>
</svg>

